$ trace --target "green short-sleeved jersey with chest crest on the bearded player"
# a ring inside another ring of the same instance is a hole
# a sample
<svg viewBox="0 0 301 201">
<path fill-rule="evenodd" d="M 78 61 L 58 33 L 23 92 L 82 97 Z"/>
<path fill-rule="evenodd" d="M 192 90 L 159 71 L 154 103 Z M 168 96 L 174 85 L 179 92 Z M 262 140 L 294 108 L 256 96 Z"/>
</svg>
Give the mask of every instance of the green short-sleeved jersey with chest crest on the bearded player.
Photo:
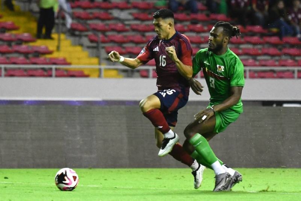
<svg viewBox="0 0 301 201">
<path fill-rule="evenodd" d="M 244 86 L 244 65 L 229 48 L 223 55 L 215 55 L 208 48 L 200 49 L 192 60 L 193 76 L 203 69 L 210 93 L 210 104 L 220 104 L 230 97 L 230 88 Z M 243 112 L 241 98 L 230 109 Z"/>
</svg>

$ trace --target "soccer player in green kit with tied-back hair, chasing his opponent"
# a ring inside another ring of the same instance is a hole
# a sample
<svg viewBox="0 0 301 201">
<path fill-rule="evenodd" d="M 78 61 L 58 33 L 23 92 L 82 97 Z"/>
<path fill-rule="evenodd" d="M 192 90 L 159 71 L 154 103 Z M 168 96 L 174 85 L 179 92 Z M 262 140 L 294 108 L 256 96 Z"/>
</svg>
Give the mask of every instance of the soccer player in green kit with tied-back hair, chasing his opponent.
<svg viewBox="0 0 301 201">
<path fill-rule="evenodd" d="M 205 110 L 195 114 L 194 120 L 185 128 L 184 148 L 200 164 L 213 169 L 216 174 L 213 191 L 230 190 L 242 181 L 242 175 L 225 166 L 208 143 L 243 112 L 244 65 L 228 48 L 231 37 L 239 35 L 239 28 L 228 22 L 217 22 L 210 30 L 208 48 L 200 49 L 194 56 L 193 76 L 189 80 L 192 90 L 201 95 L 203 86 L 194 75 L 203 69 L 210 103 Z"/>
</svg>

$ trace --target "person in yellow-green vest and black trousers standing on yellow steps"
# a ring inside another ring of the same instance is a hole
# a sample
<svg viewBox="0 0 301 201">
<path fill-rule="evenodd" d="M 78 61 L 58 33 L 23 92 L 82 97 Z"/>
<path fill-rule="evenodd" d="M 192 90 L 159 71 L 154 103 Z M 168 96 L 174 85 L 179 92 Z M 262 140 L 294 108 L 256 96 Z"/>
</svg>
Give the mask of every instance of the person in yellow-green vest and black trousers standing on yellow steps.
<svg viewBox="0 0 301 201">
<path fill-rule="evenodd" d="M 37 24 L 37 38 L 53 39 L 51 32 L 54 27 L 54 12 L 58 9 L 57 0 L 38 0 L 40 8 L 39 20 Z M 42 34 L 43 27 L 45 27 L 45 34 Z"/>
</svg>

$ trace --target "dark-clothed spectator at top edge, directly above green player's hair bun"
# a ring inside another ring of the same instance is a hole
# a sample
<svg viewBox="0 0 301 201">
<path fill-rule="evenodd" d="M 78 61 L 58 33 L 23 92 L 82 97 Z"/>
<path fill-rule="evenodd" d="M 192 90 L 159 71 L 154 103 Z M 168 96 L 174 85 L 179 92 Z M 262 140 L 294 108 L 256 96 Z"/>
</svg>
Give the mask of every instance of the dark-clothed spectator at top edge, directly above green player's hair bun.
<svg viewBox="0 0 301 201">
<path fill-rule="evenodd" d="M 228 8 L 229 16 L 237 18 L 238 23 L 246 27 L 250 15 L 250 0 L 231 0 Z"/>
</svg>

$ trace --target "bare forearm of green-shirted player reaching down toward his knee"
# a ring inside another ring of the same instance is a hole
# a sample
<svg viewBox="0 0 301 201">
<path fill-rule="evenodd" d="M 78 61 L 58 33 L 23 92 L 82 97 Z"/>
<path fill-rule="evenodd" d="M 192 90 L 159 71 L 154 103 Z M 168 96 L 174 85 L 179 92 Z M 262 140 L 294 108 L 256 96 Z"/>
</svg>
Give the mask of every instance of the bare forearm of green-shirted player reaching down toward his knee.
<svg viewBox="0 0 301 201">
<path fill-rule="evenodd" d="M 232 107 L 238 103 L 241 97 L 241 92 L 243 87 L 231 87 L 231 96 L 228 97 L 225 101 L 221 104 L 213 106 L 215 111 L 223 111 Z"/>
</svg>

